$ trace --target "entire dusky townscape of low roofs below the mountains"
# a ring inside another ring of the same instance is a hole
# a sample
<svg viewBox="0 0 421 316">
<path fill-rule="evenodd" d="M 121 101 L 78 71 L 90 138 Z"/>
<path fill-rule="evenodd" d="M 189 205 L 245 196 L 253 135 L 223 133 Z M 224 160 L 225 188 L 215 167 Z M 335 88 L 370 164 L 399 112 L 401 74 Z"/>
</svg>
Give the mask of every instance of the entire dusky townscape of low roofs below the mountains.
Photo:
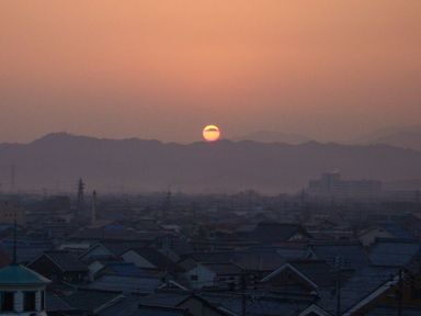
<svg viewBox="0 0 421 316">
<path fill-rule="evenodd" d="M 421 204 L 379 185 L 2 195 L 0 315 L 421 315 Z"/>
</svg>

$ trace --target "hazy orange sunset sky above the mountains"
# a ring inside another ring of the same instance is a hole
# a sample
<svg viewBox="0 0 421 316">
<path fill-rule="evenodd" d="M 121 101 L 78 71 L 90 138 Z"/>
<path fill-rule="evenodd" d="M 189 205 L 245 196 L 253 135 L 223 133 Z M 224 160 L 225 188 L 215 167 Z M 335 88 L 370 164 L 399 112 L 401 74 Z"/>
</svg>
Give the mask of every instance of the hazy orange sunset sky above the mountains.
<svg viewBox="0 0 421 316">
<path fill-rule="evenodd" d="M 420 0 L 0 2 L 0 142 L 421 123 Z"/>
</svg>

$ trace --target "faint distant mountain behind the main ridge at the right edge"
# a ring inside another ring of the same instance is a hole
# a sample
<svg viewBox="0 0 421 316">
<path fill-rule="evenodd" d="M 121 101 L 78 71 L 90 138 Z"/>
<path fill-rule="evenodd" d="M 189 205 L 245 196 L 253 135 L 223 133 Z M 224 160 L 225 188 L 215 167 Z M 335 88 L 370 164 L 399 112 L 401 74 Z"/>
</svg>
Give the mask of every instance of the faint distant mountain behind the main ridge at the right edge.
<svg viewBox="0 0 421 316">
<path fill-rule="evenodd" d="M 353 144 L 386 144 L 402 148 L 421 150 L 421 126 L 389 127 L 365 135 Z"/>
</svg>

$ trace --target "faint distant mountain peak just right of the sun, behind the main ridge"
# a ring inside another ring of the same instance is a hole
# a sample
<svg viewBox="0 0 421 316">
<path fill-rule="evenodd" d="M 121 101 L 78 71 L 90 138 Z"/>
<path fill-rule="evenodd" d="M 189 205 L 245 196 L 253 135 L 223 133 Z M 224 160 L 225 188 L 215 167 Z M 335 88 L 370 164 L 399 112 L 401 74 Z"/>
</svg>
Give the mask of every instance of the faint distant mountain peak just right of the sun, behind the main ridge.
<svg viewBox="0 0 421 316">
<path fill-rule="evenodd" d="M 303 144 L 312 140 L 311 138 L 300 134 L 288 134 L 273 131 L 258 131 L 248 135 L 232 137 L 232 140 L 253 140 L 260 143 L 286 143 L 286 144 Z"/>
</svg>

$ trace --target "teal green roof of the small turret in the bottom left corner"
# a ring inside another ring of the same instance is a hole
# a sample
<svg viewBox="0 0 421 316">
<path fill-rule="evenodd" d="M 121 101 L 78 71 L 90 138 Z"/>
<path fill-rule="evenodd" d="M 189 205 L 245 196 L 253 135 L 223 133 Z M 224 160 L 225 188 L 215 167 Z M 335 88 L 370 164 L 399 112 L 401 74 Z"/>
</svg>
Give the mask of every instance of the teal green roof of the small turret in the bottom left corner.
<svg viewBox="0 0 421 316">
<path fill-rule="evenodd" d="M 0 269 L 0 286 L 5 285 L 46 285 L 50 281 L 20 264 L 10 264 Z"/>
</svg>

